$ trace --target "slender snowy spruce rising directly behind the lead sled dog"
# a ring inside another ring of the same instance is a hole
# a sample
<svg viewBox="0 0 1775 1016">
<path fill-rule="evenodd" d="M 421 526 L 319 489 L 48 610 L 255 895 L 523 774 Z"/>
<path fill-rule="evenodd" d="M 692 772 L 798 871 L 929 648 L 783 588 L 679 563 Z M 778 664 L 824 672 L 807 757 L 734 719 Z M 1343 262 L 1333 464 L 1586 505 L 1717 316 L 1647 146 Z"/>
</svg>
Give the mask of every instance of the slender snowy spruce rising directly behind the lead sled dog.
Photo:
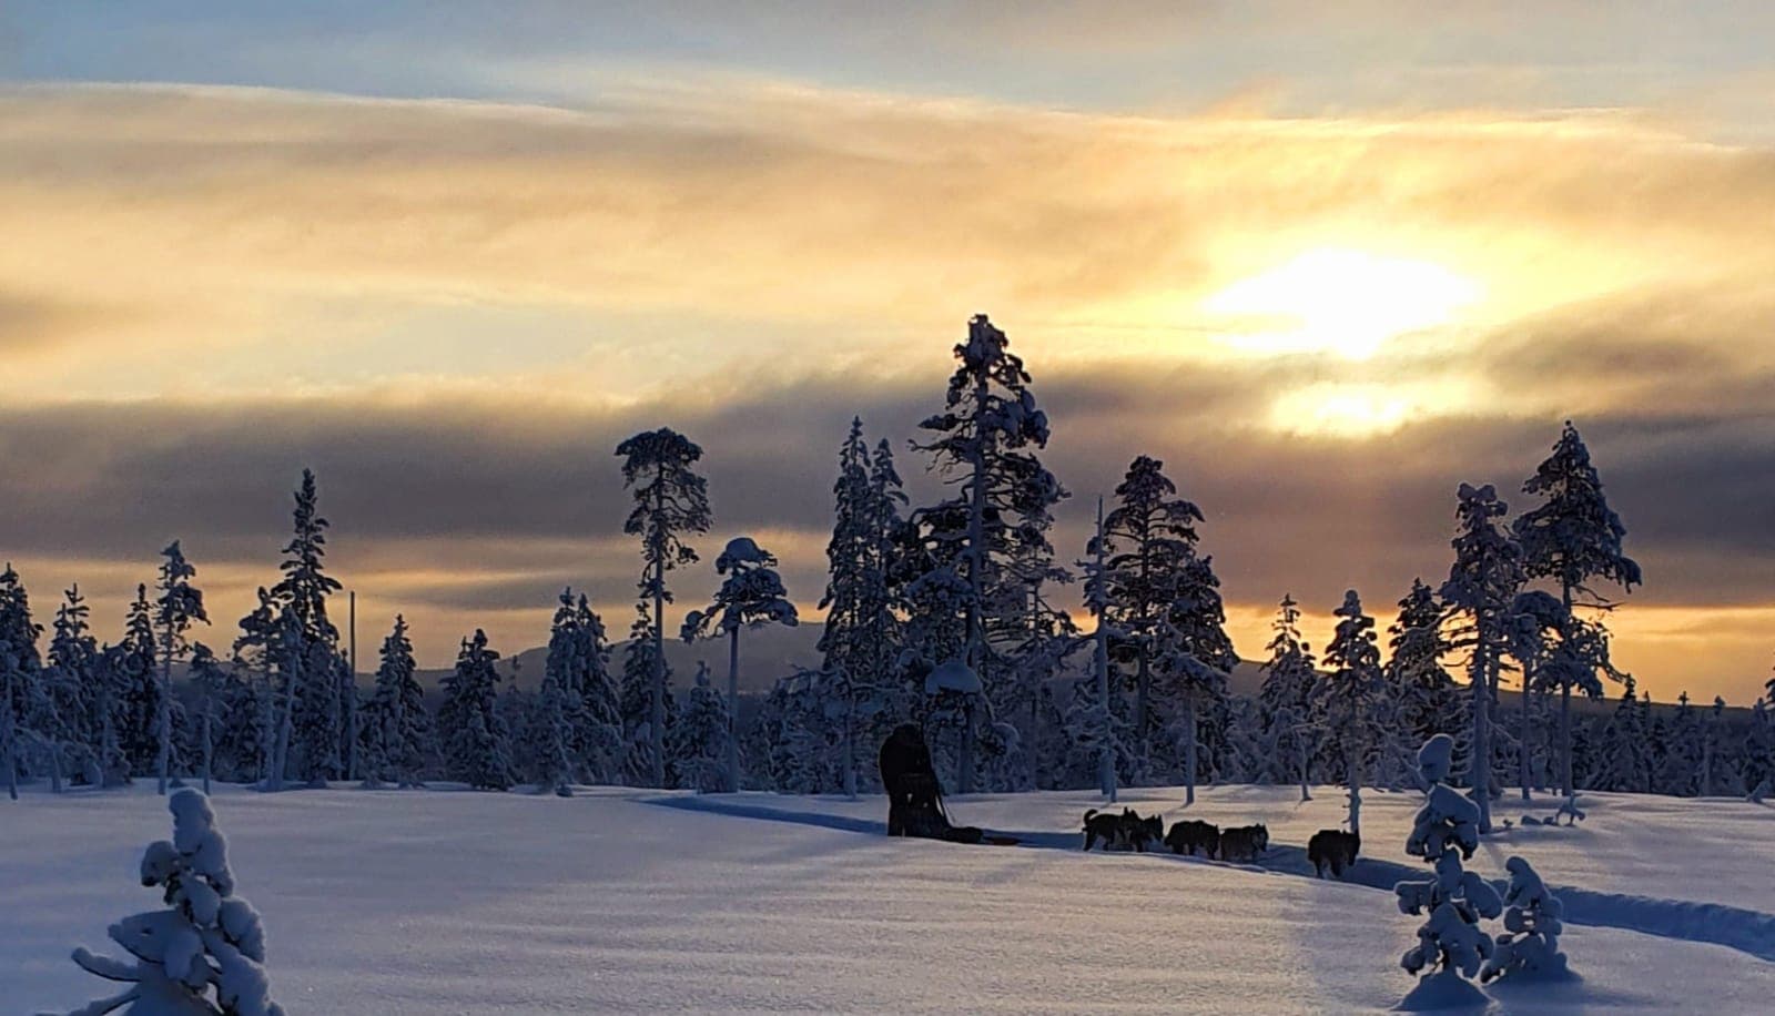
<svg viewBox="0 0 1775 1016">
<path fill-rule="evenodd" d="M 1314 686 L 1314 712 L 1322 719 L 1326 744 L 1338 757 L 1349 790 L 1349 831 L 1361 835 L 1361 785 L 1377 748 L 1377 726 L 1386 696 L 1374 618 L 1361 609 L 1356 590 L 1333 611 L 1337 631 L 1326 645 L 1326 670 Z"/>
</svg>

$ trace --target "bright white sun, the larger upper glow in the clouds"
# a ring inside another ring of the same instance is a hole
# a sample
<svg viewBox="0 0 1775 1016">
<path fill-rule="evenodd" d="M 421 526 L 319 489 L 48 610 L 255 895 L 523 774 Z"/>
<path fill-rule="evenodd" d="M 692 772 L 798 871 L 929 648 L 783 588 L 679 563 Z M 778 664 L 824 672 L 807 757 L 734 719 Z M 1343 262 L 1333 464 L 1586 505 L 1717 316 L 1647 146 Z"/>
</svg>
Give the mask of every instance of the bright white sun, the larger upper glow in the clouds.
<svg viewBox="0 0 1775 1016">
<path fill-rule="evenodd" d="M 1202 302 L 1239 318 L 1221 339 L 1257 353 L 1374 357 L 1395 336 L 1447 325 L 1482 288 L 1432 261 L 1319 247 Z"/>
</svg>

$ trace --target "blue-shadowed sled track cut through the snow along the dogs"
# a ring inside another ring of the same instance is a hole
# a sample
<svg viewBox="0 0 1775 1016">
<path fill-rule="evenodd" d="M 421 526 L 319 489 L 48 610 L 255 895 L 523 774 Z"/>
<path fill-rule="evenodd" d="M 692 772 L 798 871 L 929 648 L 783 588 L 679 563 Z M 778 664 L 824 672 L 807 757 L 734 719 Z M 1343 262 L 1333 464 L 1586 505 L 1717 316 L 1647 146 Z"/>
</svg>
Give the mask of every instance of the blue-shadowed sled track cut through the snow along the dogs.
<svg viewBox="0 0 1775 1016">
<path fill-rule="evenodd" d="M 678 808 L 683 812 L 706 812 L 714 815 L 733 815 L 738 819 L 758 819 L 765 822 L 793 822 L 801 826 L 836 829 L 841 833 L 868 833 L 875 837 L 888 835 L 888 824 L 877 822 L 873 819 L 824 815 L 818 812 L 801 812 L 795 808 L 772 808 L 769 805 L 722 801 L 719 798 L 643 798 L 643 803 L 660 808 Z M 1019 829 L 994 829 L 994 831 L 1015 837 L 1019 847 L 1081 853 L 1079 833 L 1056 833 L 1056 831 L 1033 833 Z M 930 842 L 939 842 L 939 840 L 930 840 Z M 953 845 L 964 845 L 964 844 L 953 844 Z M 1207 858 L 1186 858 L 1163 851 L 1154 851 L 1143 856 L 1152 858 L 1156 863 L 1221 865 L 1230 869 L 1258 870 L 1278 876 L 1296 876 L 1308 879 L 1315 877 L 1314 865 L 1306 860 L 1306 849 L 1289 844 L 1273 844 L 1269 851 L 1257 863 L 1248 863 L 1248 865 L 1211 861 Z M 1402 879 L 1420 879 L 1425 877 L 1427 874 L 1429 874 L 1427 867 L 1413 867 L 1413 865 L 1402 865 L 1399 861 L 1361 858 L 1345 874 L 1344 881 L 1347 885 L 1360 885 L 1392 893 L 1393 883 L 1399 883 Z M 1503 879 L 1496 879 L 1493 885 L 1502 893 L 1509 883 Z M 1622 931 L 1654 934 L 1660 938 L 1677 938 L 1684 941 L 1724 945 L 1727 949 L 1736 949 L 1738 952 L 1755 956 L 1757 959 L 1775 963 L 1775 915 L 1766 915 L 1755 909 L 1745 909 L 1715 902 L 1654 899 L 1654 897 L 1628 895 L 1628 893 L 1582 890 L 1571 886 L 1548 886 L 1548 888 L 1551 888 L 1553 893 L 1560 897 L 1560 902 L 1566 904 L 1566 917 L 1564 917 L 1566 924 L 1576 924 L 1583 927 L 1615 927 Z"/>
</svg>

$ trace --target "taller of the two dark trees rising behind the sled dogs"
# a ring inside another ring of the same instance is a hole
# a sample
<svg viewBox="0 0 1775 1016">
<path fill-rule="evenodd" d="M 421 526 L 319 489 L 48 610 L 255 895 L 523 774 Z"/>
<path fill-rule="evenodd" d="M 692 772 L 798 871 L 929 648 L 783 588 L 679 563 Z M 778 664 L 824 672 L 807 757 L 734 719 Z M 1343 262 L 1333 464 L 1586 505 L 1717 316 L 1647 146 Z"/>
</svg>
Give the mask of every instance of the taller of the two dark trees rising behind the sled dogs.
<svg viewBox="0 0 1775 1016">
<path fill-rule="evenodd" d="M 1116 687 L 1134 693 L 1134 737 L 1147 750 L 1152 730 L 1152 657 L 1180 593 L 1184 565 L 1196 556 L 1202 510 L 1177 496 L 1164 464 L 1141 455 L 1115 488 L 1104 519 L 1109 663 Z M 1150 751 L 1147 751 L 1150 753 Z"/>
</svg>

